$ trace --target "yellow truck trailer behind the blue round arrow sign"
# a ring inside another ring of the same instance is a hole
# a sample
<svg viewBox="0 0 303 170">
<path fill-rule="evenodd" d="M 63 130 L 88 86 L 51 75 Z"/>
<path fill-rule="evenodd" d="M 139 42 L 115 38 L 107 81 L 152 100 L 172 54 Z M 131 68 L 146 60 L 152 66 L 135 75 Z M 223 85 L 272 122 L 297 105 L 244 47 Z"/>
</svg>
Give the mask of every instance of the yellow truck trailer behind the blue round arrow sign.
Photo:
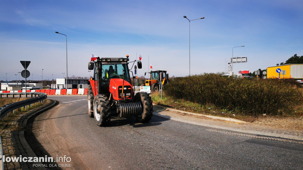
<svg viewBox="0 0 303 170">
<path fill-rule="evenodd" d="M 285 70 L 283 75 L 281 72 Z M 303 64 L 285 64 L 267 67 L 267 78 L 303 79 Z"/>
</svg>

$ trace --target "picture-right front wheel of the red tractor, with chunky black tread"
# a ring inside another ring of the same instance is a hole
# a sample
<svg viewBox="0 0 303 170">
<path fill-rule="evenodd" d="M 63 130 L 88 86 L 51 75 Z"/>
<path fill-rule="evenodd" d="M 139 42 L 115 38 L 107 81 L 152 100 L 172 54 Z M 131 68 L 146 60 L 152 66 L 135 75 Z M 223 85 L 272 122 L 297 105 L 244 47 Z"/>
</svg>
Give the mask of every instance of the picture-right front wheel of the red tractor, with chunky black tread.
<svg viewBox="0 0 303 170">
<path fill-rule="evenodd" d="M 141 123 L 149 122 L 154 111 L 152 100 L 149 94 L 144 92 L 139 92 L 134 97 L 134 102 L 140 102 L 143 105 L 143 112 L 141 115 L 135 116 L 137 121 Z"/>
</svg>

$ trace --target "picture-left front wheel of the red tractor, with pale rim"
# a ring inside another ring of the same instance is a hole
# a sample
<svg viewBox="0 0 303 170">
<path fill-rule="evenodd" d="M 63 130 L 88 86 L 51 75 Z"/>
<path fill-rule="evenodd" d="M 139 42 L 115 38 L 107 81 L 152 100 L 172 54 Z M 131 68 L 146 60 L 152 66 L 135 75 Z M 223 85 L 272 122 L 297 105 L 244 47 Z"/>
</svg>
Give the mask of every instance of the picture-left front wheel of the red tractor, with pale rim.
<svg viewBox="0 0 303 170">
<path fill-rule="evenodd" d="M 95 96 L 94 117 L 98 126 L 106 126 L 111 122 L 111 105 L 107 96 L 102 94 Z"/>
</svg>

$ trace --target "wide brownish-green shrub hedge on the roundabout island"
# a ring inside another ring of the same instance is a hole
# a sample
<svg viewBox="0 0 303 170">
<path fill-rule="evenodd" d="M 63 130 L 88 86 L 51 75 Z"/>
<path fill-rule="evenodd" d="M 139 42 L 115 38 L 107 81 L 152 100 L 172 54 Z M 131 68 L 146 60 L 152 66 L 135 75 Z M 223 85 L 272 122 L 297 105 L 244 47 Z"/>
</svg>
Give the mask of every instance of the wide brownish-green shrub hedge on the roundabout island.
<svg viewBox="0 0 303 170">
<path fill-rule="evenodd" d="M 302 93 L 285 80 L 241 79 L 212 73 L 177 77 L 163 90 L 174 99 L 257 115 L 290 113 L 303 101 Z"/>
</svg>

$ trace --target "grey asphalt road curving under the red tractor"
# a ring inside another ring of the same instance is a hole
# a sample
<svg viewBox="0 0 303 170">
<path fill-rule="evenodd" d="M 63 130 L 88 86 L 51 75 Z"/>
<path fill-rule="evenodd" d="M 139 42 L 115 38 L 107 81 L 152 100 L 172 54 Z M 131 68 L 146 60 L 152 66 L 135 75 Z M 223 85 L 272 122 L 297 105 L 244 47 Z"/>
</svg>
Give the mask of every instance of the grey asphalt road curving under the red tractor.
<svg viewBox="0 0 303 170">
<path fill-rule="evenodd" d="M 112 118 L 99 127 L 86 96 L 48 96 L 59 105 L 35 118 L 33 133 L 63 169 L 303 169 L 301 142 L 182 123 L 153 116 Z M 65 103 L 66 102 L 66 103 Z M 55 169 L 50 168 L 49 169 Z"/>
</svg>

